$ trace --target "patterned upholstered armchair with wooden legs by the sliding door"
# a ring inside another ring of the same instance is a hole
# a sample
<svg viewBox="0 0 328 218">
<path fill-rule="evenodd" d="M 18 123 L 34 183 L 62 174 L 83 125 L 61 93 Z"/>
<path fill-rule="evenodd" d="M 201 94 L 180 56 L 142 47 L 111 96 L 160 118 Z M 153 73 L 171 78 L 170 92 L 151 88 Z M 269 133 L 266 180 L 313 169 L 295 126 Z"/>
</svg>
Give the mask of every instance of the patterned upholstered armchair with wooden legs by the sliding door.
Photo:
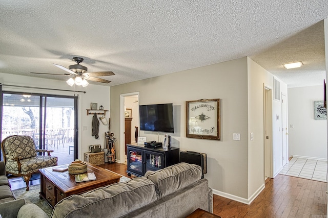
<svg viewBox="0 0 328 218">
<path fill-rule="evenodd" d="M 13 135 L 5 138 L 1 143 L 6 172 L 14 176 L 23 176 L 26 190 L 32 174 L 38 173 L 39 168 L 57 165 L 57 157 L 51 157 L 47 150 L 35 148 L 33 138 L 27 135 Z M 37 155 L 37 152 L 47 152 L 48 156 Z"/>
</svg>

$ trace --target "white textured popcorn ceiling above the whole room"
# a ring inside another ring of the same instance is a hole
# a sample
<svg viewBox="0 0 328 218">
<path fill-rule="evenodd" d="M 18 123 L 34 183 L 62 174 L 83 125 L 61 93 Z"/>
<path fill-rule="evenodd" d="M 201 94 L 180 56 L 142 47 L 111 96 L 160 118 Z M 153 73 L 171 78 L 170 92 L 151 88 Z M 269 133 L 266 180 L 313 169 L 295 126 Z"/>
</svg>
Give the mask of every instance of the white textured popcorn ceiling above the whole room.
<svg viewBox="0 0 328 218">
<path fill-rule="evenodd" d="M 290 87 L 318 85 L 327 15 L 326 0 L 2 0 L 0 72 L 64 81 L 30 72 L 64 74 L 52 63 L 78 56 L 112 86 L 250 56 Z"/>
</svg>

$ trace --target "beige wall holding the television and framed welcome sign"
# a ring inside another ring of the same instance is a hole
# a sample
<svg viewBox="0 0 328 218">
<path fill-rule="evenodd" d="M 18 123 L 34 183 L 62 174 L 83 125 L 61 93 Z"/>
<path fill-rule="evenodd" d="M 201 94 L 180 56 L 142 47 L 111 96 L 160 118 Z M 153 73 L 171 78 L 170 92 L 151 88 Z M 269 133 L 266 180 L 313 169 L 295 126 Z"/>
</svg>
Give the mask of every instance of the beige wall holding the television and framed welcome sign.
<svg viewBox="0 0 328 218">
<path fill-rule="evenodd" d="M 210 186 L 248 198 L 247 58 L 185 70 L 161 77 L 111 87 L 111 130 L 119 132 L 119 95 L 140 92 L 139 104 L 173 103 L 173 147 L 207 153 Z M 185 102 L 221 99 L 221 140 L 186 138 Z M 240 133 L 240 141 L 232 140 Z M 147 140 L 157 133 L 140 131 Z M 118 143 L 117 143 L 118 144 Z M 116 146 L 117 147 L 117 146 Z M 118 150 L 116 150 L 118 151 Z M 118 155 L 116 155 L 116 158 Z"/>
</svg>

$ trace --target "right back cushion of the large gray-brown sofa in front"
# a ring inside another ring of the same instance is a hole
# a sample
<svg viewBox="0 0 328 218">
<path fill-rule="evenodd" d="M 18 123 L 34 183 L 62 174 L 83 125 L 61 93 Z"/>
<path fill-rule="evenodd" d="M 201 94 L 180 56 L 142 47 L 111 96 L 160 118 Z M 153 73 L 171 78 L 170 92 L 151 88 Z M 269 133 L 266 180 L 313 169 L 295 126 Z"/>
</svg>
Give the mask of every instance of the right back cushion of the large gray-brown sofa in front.
<svg viewBox="0 0 328 218">
<path fill-rule="evenodd" d="M 159 198 L 165 197 L 201 179 L 201 167 L 189 163 L 177 163 L 155 172 L 146 172 L 145 177 L 155 184 Z"/>
</svg>

